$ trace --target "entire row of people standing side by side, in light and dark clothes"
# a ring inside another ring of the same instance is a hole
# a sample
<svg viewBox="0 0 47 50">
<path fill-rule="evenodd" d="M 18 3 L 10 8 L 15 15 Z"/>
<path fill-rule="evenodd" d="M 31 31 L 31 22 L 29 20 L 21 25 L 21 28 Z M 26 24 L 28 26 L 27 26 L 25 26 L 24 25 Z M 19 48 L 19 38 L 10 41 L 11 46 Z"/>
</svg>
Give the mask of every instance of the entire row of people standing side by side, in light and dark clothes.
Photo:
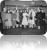
<svg viewBox="0 0 47 50">
<path fill-rule="evenodd" d="M 3 28 L 10 29 L 11 26 L 15 27 L 24 27 L 29 28 L 37 27 L 40 29 L 40 26 L 45 26 L 45 12 L 41 9 L 39 10 L 7 10 L 3 8 L 1 12 L 1 18 L 3 23 Z"/>
</svg>

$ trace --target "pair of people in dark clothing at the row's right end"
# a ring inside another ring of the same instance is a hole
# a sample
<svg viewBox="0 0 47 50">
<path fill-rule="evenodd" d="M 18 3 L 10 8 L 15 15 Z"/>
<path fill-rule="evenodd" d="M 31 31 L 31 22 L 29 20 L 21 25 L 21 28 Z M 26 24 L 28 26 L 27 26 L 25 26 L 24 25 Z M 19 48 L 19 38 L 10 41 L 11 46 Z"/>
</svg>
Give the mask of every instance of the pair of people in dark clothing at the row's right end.
<svg viewBox="0 0 47 50">
<path fill-rule="evenodd" d="M 45 12 L 43 10 L 39 10 L 36 13 L 36 25 L 38 28 L 45 28 Z"/>
</svg>

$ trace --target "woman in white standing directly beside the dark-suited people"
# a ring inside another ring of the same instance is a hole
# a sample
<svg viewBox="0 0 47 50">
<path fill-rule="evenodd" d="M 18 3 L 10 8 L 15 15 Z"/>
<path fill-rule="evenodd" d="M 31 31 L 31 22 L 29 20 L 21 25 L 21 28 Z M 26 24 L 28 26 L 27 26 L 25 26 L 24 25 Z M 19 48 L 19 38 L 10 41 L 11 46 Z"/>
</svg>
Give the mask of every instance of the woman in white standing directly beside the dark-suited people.
<svg viewBox="0 0 47 50">
<path fill-rule="evenodd" d="M 31 15 L 32 19 L 30 19 L 30 17 L 28 18 L 28 24 L 29 24 L 29 28 L 33 28 L 35 25 L 35 16 L 36 13 L 33 9 L 30 10 L 29 15 Z"/>
</svg>

